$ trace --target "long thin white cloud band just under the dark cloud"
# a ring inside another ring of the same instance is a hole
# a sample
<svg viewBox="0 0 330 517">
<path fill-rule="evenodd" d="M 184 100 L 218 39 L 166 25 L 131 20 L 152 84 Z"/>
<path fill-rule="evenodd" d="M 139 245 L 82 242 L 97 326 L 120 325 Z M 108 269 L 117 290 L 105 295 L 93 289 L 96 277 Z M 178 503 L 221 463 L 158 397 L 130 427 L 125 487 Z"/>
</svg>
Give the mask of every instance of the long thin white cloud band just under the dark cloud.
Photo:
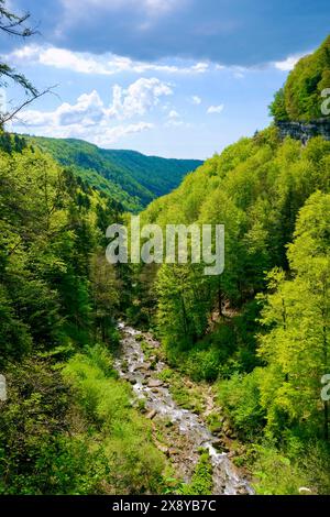
<svg viewBox="0 0 330 517">
<path fill-rule="evenodd" d="M 98 74 L 111 76 L 124 72 L 145 74 L 157 72 L 163 74 L 195 75 L 205 74 L 209 69 L 207 63 L 167 65 L 162 63 L 144 63 L 116 54 L 95 55 L 73 52 L 54 46 L 25 45 L 16 48 L 7 56 L 16 64 L 38 64 L 58 69 L 68 69 L 79 74 Z"/>
</svg>

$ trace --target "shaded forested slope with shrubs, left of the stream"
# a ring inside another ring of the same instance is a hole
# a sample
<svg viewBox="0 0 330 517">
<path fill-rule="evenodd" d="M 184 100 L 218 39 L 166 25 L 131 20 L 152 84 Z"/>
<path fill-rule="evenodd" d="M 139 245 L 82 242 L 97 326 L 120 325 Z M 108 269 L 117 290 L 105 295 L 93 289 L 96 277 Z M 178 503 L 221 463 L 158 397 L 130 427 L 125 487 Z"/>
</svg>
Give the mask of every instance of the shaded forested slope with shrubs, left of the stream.
<svg viewBox="0 0 330 517">
<path fill-rule="evenodd" d="M 0 148 L 0 369 L 9 394 L 0 402 L 0 493 L 157 492 L 162 455 L 109 352 L 125 282 L 106 262 L 105 230 L 120 213 L 18 136 L 11 153 Z"/>
</svg>

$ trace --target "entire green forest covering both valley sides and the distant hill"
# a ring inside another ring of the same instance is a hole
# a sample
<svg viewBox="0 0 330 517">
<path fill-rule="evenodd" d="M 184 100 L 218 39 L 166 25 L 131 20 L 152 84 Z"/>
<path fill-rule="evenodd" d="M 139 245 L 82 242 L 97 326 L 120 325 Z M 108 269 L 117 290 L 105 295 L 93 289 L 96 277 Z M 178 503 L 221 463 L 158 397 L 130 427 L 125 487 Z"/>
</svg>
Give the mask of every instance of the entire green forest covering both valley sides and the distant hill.
<svg viewBox="0 0 330 517">
<path fill-rule="evenodd" d="M 329 43 L 289 74 L 275 121 L 320 116 Z M 1 67 L 0 81 L 3 74 L 26 81 Z M 129 212 L 162 228 L 224 224 L 223 274 L 109 264 L 106 230 Z M 119 321 L 142 332 L 151 370 L 155 354 L 166 362 L 161 380 L 178 406 L 229 438 L 254 493 L 329 494 L 329 229 L 330 142 L 321 136 L 302 145 L 272 123 L 201 164 L 2 124 L 0 494 L 212 493 L 208 452 L 184 479 L 176 452 L 160 446 L 173 422 L 147 415 L 120 377 Z M 207 417 L 205 394 L 215 400 Z"/>
</svg>

